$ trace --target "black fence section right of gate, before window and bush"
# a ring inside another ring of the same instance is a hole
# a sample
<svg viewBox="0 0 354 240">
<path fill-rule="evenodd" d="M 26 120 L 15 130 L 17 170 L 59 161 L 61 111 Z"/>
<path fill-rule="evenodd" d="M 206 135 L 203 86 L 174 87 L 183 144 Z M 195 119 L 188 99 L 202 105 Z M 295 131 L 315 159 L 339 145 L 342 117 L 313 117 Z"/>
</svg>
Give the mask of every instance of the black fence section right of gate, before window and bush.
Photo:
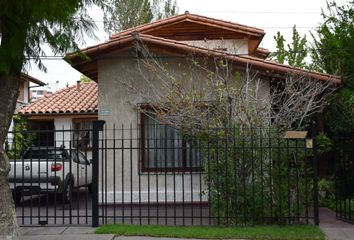
<svg viewBox="0 0 354 240">
<path fill-rule="evenodd" d="M 306 143 L 264 128 L 105 126 L 96 224 L 318 223 Z"/>
</svg>

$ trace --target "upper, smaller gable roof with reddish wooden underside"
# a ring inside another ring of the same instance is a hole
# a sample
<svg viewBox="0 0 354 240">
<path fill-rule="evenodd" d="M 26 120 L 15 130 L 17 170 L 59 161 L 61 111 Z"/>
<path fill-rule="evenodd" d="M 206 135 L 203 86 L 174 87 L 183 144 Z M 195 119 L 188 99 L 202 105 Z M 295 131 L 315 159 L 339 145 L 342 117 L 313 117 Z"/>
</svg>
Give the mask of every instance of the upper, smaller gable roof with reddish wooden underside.
<svg viewBox="0 0 354 240">
<path fill-rule="evenodd" d="M 264 30 L 260 28 L 191 14 L 186 11 L 185 14 L 175 15 L 113 34 L 111 40 L 130 35 L 133 32 L 178 41 L 248 39 L 248 51 L 250 53 L 257 49 L 265 35 Z"/>
</svg>

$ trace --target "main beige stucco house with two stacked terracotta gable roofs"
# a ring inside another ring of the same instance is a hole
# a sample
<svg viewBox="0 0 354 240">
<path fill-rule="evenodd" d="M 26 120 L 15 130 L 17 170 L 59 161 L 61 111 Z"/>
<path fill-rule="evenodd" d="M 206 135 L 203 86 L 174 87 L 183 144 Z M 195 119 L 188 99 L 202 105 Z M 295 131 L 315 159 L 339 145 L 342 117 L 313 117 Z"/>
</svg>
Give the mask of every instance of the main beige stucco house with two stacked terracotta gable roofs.
<svg viewBox="0 0 354 240">
<path fill-rule="evenodd" d="M 141 179 L 143 184 L 141 188 L 143 189 L 147 188 L 146 182 L 148 182 L 149 177 L 153 175 L 160 176 L 158 179 L 161 186 L 150 189 L 151 197 L 149 197 L 149 201 L 154 201 L 156 199 L 154 196 L 160 194 L 160 192 L 155 194 L 153 192 L 155 191 L 154 189 L 161 191 L 161 194 L 166 192 L 165 188 L 167 188 L 167 192 L 174 191 L 171 185 L 173 182 L 171 180 L 172 177 L 177 179 L 174 182 L 181 183 L 183 175 L 185 177 L 183 178 L 185 186 L 193 185 L 193 189 L 202 189 L 203 181 L 198 178 L 200 175 L 198 171 L 201 169 L 200 163 L 184 157 L 170 157 L 167 160 L 166 156 L 176 154 L 174 150 L 179 152 L 178 155 L 180 156 L 186 155 L 186 153 L 180 152 L 183 151 L 180 147 L 181 141 L 175 141 L 175 143 L 171 143 L 163 149 L 160 149 L 159 146 L 153 144 L 153 146 L 149 146 L 148 144 L 147 139 L 149 136 L 157 131 L 162 138 L 167 132 L 168 134 L 175 133 L 164 126 L 155 126 L 154 129 L 147 127 L 151 126 L 149 124 L 154 122 L 154 120 L 146 117 L 142 111 L 139 111 L 139 108 L 149 103 L 141 102 L 139 95 L 129 93 L 125 87 L 120 85 L 120 83 L 125 81 L 134 81 L 136 85 L 140 85 L 143 88 L 144 84 L 146 84 L 138 70 L 136 52 L 134 51 L 136 41 L 143 42 L 155 55 L 163 57 L 163 60 L 167 63 L 166 66 L 174 72 L 180 71 L 180 66 L 183 67 L 188 64 L 185 57 L 191 54 L 195 56 L 222 56 L 233 61 L 241 69 L 245 69 L 247 65 L 252 66 L 252 69 L 258 70 L 264 78 L 265 84 L 263 89 L 261 89 L 261 94 L 269 94 L 271 88 L 270 79 L 282 78 L 282 76 L 284 77 L 289 73 L 306 73 L 309 78 L 314 80 L 340 83 L 338 77 L 265 60 L 269 52 L 258 47 L 264 35 L 265 32 L 259 28 L 187 12 L 186 14 L 125 30 L 113 35 L 105 43 L 82 49 L 82 52 L 89 56 L 89 60 L 83 60 L 76 54 L 71 54 L 67 57 L 75 69 L 98 83 L 98 119 L 105 120 L 108 127 L 112 127 L 113 124 L 116 126 L 124 124 L 125 127 L 132 125 L 141 128 L 141 131 L 134 132 L 136 139 L 139 139 L 140 143 L 134 143 L 133 153 L 129 153 L 126 150 L 123 157 L 123 151 L 122 153 L 118 152 L 115 159 L 124 158 L 124 161 L 126 161 L 124 169 L 127 171 L 130 171 L 129 162 L 131 161 L 132 179 L 140 176 L 139 179 Z M 158 79 L 156 78 L 156 81 Z M 182 74 L 180 74 L 177 81 L 185 81 Z M 201 76 L 200 85 L 203 85 L 203 76 Z M 109 132 L 108 136 L 112 137 L 112 132 Z M 177 135 L 174 137 L 176 139 L 179 138 Z M 170 149 L 169 151 L 166 150 L 167 147 Z M 141 154 L 139 154 L 138 149 Z M 119 160 L 113 163 L 112 153 L 109 154 L 107 157 L 108 166 L 106 165 L 106 167 L 111 170 L 113 166 L 116 166 L 115 171 L 122 171 L 120 170 L 122 162 Z M 155 165 L 156 162 L 157 167 Z M 166 172 L 167 177 L 165 175 Z M 178 174 L 172 175 L 172 172 L 178 172 Z M 107 174 L 110 173 L 108 172 Z M 188 175 L 195 175 L 195 178 L 193 178 L 200 180 L 193 181 L 192 184 Z M 166 177 L 166 180 L 163 177 Z M 126 195 L 126 201 L 129 201 L 129 190 L 125 189 L 130 188 L 133 191 L 132 201 L 138 201 L 137 194 L 140 186 L 136 182 L 132 183 L 129 179 L 125 179 L 124 186 L 117 186 L 113 190 L 113 181 L 113 179 L 108 178 L 108 202 L 113 200 L 114 193 L 116 194 L 115 201 L 120 201 L 121 191 Z M 165 181 L 168 182 L 166 183 L 167 186 L 164 185 Z M 197 195 L 198 193 L 200 193 L 199 190 L 196 190 L 195 196 L 194 192 L 188 196 L 183 196 L 183 201 L 188 202 L 193 201 L 193 199 L 198 199 L 199 201 L 200 196 Z M 146 202 L 148 198 L 146 191 L 142 194 L 141 201 Z M 177 201 L 182 201 L 181 184 L 178 184 L 176 194 Z M 206 200 L 204 197 L 203 200 Z M 170 201 L 172 198 L 168 197 L 168 199 Z"/>
</svg>

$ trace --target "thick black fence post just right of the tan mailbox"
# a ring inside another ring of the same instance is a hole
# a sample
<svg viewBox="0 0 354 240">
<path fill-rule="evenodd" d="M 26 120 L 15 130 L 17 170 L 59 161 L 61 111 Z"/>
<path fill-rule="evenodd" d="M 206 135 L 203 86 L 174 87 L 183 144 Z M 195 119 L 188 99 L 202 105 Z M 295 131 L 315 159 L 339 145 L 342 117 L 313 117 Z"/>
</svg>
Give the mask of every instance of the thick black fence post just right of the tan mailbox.
<svg viewBox="0 0 354 240">
<path fill-rule="evenodd" d="M 317 159 L 317 129 L 316 122 L 312 122 L 312 141 L 313 141 L 313 213 L 315 225 L 318 226 L 320 223 L 319 212 L 318 212 L 318 159 Z"/>
</svg>

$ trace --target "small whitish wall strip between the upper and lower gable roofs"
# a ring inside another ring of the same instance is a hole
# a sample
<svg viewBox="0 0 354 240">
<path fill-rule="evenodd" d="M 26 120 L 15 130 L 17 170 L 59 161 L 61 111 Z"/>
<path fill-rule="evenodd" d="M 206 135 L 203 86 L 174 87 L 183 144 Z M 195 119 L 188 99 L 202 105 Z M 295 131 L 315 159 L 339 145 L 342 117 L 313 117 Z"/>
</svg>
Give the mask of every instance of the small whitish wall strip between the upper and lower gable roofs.
<svg viewBox="0 0 354 240">
<path fill-rule="evenodd" d="M 225 39 L 225 40 L 198 40 L 198 41 L 181 41 L 183 43 L 203 47 L 208 49 L 226 49 L 226 52 L 231 54 L 248 54 L 247 39 Z"/>
</svg>

